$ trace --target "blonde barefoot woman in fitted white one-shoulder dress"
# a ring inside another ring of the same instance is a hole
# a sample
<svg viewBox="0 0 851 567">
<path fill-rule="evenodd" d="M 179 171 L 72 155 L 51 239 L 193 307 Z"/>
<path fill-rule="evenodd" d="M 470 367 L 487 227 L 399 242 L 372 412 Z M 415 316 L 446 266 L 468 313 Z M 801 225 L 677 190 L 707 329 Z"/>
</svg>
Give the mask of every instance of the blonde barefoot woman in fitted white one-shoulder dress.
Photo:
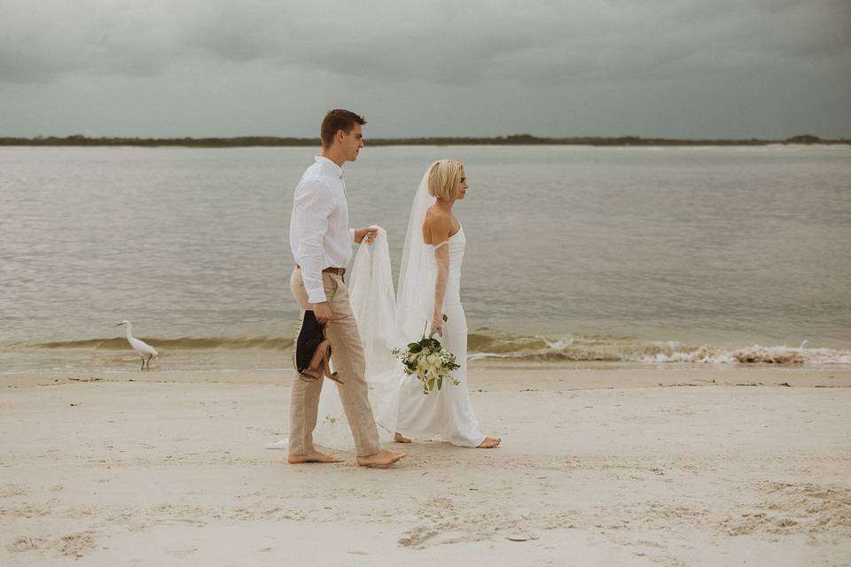
<svg viewBox="0 0 851 567">
<path fill-rule="evenodd" d="M 409 437 L 440 436 L 460 447 L 497 447 L 501 439 L 479 431 L 467 392 L 467 322 L 460 297 L 466 238 L 453 213 L 467 191 L 464 165 L 454 159 L 435 161 L 423 181 L 411 207 L 396 319 L 408 340 L 418 340 L 428 321 L 427 336 L 439 337 L 442 348 L 461 365 L 453 372 L 460 384 L 424 394 L 417 377 L 402 378 L 394 404 L 394 440 L 410 443 Z"/>
</svg>

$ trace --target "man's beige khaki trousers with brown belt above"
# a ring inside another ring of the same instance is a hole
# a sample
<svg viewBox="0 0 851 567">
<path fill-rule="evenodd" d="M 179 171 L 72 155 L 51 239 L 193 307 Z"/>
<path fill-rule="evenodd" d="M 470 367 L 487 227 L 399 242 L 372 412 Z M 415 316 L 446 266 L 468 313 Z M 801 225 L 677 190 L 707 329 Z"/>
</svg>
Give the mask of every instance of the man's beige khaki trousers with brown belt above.
<svg viewBox="0 0 851 567">
<path fill-rule="evenodd" d="M 340 400 L 346 412 L 348 426 L 355 438 L 357 456 L 375 454 L 381 450 L 379 430 L 372 416 L 368 386 L 363 376 L 366 361 L 363 359 L 363 346 L 357 331 L 357 322 L 348 299 L 348 289 L 343 279 L 336 274 L 322 274 L 322 283 L 328 307 L 331 308 L 331 324 L 325 327 L 325 338 L 331 342 L 331 361 L 334 370 L 340 373 L 345 384 L 336 384 Z M 301 281 L 301 269 L 295 268 L 290 277 L 293 298 L 299 302 L 303 311 L 309 310 L 308 292 Z M 319 411 L 319 393 L 322 392 L 324 379 L 305 382 L 298 377 L 293 379 L 293 396 L 290 400 L 290 454 L 308 454 L 313 451 L 313 430 L 316 428 L 316 415 Z"/>
</svg>

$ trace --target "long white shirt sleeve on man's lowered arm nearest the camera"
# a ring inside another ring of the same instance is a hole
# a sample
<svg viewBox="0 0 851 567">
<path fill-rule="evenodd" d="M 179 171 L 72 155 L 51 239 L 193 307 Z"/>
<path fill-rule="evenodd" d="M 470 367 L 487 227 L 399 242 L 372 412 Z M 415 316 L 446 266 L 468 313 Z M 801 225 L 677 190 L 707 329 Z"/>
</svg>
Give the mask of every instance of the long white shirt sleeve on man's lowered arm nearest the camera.
<svg viewBox="0 0 851 567">
<path fill-rule="evenodd" d="M 328 216 L 333 210 L 332 192 L 321 181 L 302 183 L 295 190 L 293 255 L 301 266 L 301 279 L 310 303 L 325 301 L 322 270 L 328 266 L 323 238 L 328 229 Z"/>
</svg>

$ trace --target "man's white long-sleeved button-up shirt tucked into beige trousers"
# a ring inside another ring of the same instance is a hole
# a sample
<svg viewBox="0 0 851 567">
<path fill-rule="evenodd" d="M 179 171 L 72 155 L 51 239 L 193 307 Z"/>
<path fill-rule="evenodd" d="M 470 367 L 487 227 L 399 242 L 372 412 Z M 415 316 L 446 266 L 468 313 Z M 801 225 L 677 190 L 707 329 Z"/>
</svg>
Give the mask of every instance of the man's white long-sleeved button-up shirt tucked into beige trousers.
<svg viewBox="0 0 851 567">
<path fill-rule="evenodd" d="M 343 168 L 316 156 L 301 175 L 293 198 L 290 248 L 301 266 L 301 279 L 310 303 L 322 303 L 324 268 L 346 268 L 352 259 L 355 230 L 348 227 L 348 203 Z"/>
</svg>

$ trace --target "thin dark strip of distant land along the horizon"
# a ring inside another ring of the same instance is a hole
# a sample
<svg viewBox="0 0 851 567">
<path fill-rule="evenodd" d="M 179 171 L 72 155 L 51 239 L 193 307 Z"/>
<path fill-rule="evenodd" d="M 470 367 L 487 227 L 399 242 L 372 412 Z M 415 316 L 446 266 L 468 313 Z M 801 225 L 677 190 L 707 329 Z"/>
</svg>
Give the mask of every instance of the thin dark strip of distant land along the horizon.
<svg viewBox="0 0 851 567">
<path fill-rule="evenodd" d="M 547 138 L 529 134 L 496 137 L 420 137 L 420 138 L 367 138 L 370 146 L 388 145 L 595 145 L 595 146 L 701 146 L 701 145 L 769 145 L 769 144 L 851 144 L 851 139 L 823 140 L 808 134 L 784 140 L 757 138 L 738 140 L 689 140 L 680 138 L 643 138 L 639 136 L 602 137 L 582 136 Z M 237 136 L 227 138 L 125 138 L 73 136 L 36 136 L 34 138 L 0 137 L 0 146 L 178 146 L 187 148 L 245 148 L 245 147 L 316 147 L 319 138 L 293 138 L 276 136 Z"/>
</svg>

